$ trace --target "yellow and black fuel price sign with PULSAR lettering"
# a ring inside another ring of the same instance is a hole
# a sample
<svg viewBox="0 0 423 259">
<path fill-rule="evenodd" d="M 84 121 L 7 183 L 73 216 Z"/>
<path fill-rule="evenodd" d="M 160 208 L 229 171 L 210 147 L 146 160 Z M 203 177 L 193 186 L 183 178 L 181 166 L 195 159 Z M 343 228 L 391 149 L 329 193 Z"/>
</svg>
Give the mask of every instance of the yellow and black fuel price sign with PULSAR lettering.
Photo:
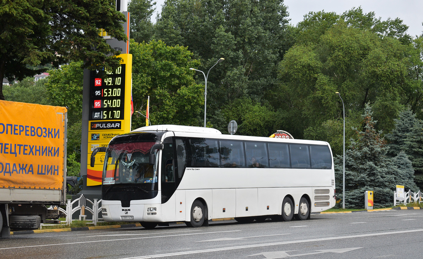
<svg viewBox="0 0 423 259">
<path fill-rule="evenodd" d="M 132 55 L 122 54 L 115 71 L 92 71 L 88 125 L 87 186 L 102 184 L 104 154 L 97 154 L 91 167 L 91 153 L 107 147 L 114 136 L 131 130 Z"/>
</svg>

